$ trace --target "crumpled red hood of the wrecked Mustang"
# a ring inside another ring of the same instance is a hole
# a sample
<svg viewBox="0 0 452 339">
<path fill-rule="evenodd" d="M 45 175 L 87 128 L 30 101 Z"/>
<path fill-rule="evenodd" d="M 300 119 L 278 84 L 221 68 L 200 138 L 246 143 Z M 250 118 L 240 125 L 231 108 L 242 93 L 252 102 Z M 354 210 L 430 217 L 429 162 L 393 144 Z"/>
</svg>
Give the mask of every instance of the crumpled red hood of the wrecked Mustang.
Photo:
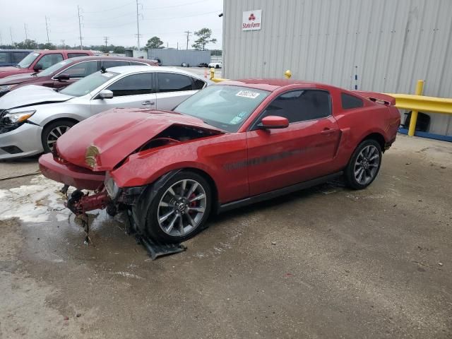
<svg viewBox="0 0 452 339">
<path fill-rule="evenodd" d="M 58 139 L 57 150 L 60 157 L 74 165 L 95 171 L 111 170 L 134 150 L 174 124 L 224 133 L 188 115 L 151 109 L 117 108 L 96 114 L 73 126 Z M 93 167 L 87 165 L 87 156 L 95 157 Z"/>
</svg>

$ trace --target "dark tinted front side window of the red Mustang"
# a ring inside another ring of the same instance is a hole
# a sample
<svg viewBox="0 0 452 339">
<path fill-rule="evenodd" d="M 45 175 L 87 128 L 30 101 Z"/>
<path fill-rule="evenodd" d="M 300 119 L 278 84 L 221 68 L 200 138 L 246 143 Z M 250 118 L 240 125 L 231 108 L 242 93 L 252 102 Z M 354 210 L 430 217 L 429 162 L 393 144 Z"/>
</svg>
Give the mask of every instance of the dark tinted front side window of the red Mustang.
<svg viewBox="0 0 452 339">
<path fill-rule="evenodd" d="M 321 119 L 331 115 L 330 95 L 325 90 L 292 90 L 283 93 L 263 112 L 263 117 L 277 115 L 289 123 Z"/>
</svg>

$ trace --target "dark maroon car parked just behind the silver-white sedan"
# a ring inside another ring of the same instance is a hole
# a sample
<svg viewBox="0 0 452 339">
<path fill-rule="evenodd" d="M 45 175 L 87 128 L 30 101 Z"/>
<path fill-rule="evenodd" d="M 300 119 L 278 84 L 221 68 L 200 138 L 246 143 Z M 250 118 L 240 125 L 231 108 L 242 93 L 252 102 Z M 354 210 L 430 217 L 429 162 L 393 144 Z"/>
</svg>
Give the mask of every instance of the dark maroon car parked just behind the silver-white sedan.
<svg viewBox="0 0 452 339">
<path fill-rule="evenodd" d="M 76 57 L 60 61 L 39 73 L 25 73 L 0 78 L 0 97 L 25 85 L 41 85 L 50 88 L 64 88 L 71 83 L 97 72 L 115 66 L 157 66 L 157 61 L 128 57 Z"/>
</svg>

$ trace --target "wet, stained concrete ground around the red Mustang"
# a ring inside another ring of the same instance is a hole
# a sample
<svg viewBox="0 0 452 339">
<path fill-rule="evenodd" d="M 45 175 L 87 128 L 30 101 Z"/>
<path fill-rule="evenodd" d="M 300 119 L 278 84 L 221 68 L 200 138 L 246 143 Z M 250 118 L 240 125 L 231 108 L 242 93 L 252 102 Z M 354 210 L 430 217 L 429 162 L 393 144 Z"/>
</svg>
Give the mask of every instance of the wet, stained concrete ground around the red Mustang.
<svg viewBox="0 0 452 339">
<path fill-rule="evenodd" d="M 121 216 L 85 246 L 59 185 L 0 180 L 0 338 L 452 338 L 451 187 L 451 143 L 398 136 L 368 189 L 234 210 L 150 261 Z"/>
</svg>

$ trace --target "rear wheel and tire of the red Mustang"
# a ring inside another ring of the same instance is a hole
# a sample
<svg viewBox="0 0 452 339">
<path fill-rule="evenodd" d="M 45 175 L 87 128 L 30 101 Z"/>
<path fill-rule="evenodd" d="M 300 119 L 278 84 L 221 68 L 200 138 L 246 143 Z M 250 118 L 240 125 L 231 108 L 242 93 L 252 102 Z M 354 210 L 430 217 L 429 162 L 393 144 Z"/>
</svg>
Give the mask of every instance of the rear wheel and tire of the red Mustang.
<svg viewBox="0 0 452 339">
<path fill-rule="evenodd" d="M 376 157 L 378 155 L 378 157 Z M 345 168 L 345 182 L 351 189 L 365 189 L 379 174 L 381 145 L 374 139 L 358 145 Z"/>
</svg>

